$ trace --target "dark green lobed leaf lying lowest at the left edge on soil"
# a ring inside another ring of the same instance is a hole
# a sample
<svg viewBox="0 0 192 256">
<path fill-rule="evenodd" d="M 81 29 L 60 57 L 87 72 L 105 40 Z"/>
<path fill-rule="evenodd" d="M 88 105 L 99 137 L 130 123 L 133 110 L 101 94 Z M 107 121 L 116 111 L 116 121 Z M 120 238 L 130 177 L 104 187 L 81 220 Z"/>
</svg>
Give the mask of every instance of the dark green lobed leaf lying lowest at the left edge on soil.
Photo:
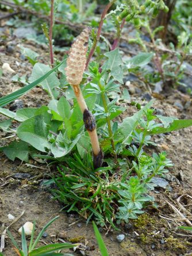
<svg viewBox="0 0 192 256">
<path fill-rule="evenodd" d="M 7 158 L 11 159 L 11 161 L 14 161 L 16 158 L 25 162 L 28 162 L 29 160 L 30 150 L 28 143 L 22 142 L 21 140 L 20 142 L 14 140 L 14 142 L 11 142 L 9 146 L 1 147 L 0 151 L 3 151 Z"/>
</svg>

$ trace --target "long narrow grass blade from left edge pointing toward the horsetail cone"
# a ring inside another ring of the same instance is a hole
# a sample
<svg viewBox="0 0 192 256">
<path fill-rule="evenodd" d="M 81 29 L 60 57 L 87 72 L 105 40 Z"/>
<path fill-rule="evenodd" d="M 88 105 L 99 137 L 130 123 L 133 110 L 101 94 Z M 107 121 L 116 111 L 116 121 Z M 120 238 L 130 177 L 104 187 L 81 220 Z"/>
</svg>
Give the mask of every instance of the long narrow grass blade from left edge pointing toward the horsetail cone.
<svg viewBox="0 0 192 256">
<path fill-rule="evenodd" d="M 13 93 L 10 93 L 4 97 L 0 98 L 0 107 L 5 106 L 9 104 L 10 102 L 16 100 L 21 95 L 25 94 L 27 91 L 33 89 L 33 87 L 39 85 L 42 81 L 44 81 L 45 78 L 49 77 L 49 75 L 52 74 L 57 68 L 59 68 L 66 60 L 63 60 L 61 63 L 59 63 L 56 67 L 52 68 L 49 72 L 47 72 L 43 77 L 38 78 L 36 81 L 30 83 L 29 85 L 26 85 L 22 87 L 20 90 L 14 91 Z"/>
</svg>

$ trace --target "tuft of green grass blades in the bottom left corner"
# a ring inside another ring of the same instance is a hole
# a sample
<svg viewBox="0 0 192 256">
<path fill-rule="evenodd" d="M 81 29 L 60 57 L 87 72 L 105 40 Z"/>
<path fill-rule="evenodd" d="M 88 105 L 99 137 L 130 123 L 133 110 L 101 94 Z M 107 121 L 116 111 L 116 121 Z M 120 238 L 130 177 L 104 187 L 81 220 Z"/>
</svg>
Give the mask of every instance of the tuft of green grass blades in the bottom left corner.
<svg viewBox="0 0 192 256">
<path fill-rule="evenodd" d="M 20 247 L 18 246 L 16 240 L 13 238 L 13 235 L 11 235 L 10 231 L 7 230 L 7 234 L 9 235 L 9 238 L 11 239 L 11 242 L 13 243 L 18 255 L 20 256 L 67 256 L 68 254 L 63 254 L 63 253 L 56 253 L 56 251 L 61 250 L 61 249 L 70 249 L 72 247 L 77 246 L 78 244 L 71 244 L 71 243 L 52 243 L 48 244 L 46 246 L 41 246 L 39 248 L 37 247 L 37 243 L 39 242 L 41 236 L 43 235 L 43 232 L 47 230 L 47 228 L 55 221 L 58 219 L 59 216 L 56 216 L 52 220 L 50 220 L 40 231 L 39 235 L 37 236 L 36 240 L 34 240 L 34 234 L 35 234 L 35 221 L 33 223 L 33 230 L 32 230 L 32 235 L 30 237 L 30 243 L 29 247 L 26 241 L 26 236 L 25 236 L 25 231 L 24 228 L 22 227 L 22 234 L 21 234 L 21 246 L 22 249 L 20 250 Z M 34 242 L 33 242 L 34 240 Z M 1 254 L 3 255 L 3 254 Z"/>
</svg>

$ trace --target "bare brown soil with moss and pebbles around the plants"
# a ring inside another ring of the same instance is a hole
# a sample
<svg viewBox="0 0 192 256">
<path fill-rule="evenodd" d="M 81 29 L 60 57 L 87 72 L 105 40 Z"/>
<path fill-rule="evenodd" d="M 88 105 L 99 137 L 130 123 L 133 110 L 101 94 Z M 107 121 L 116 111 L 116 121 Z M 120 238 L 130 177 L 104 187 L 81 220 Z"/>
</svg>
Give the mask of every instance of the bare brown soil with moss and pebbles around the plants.
<svg viewBox="0 0 192 256">
<path fill-rule="evenodd" d="M 9 29 L 6 26 L 3 26 L 1 33 L 4 37 L 0 45 L 0 67 L 3 63 L 9 63 L 10 67 L 15 71 L 13 74 L 9 72 L 3 74 L 0 79 L 0 93 L 3 96 L 23 86 L 21 83 L 11 81 L 14 74 L 21 76 L 30 75 L 32 72 L 32 66 L 22 56 L 18 44 L 22 44 L 24 47 L 39 53 L 41 63 L 48 63 L 49 58 L 47 47 L 40 47 L 40 45 L 32 41 L 10 36 Z M 7 45 L 9 44 L 13 47 L 11 52 L 7 51 Z M 142 94 L 146 93 L 146 89 L 139 83 L 134 83 L 140 89 L 140 93 L 133 92 L 131 100 L 137 101 L 141 105 L 146 104 L 147 101 L 142 99 Z M 179 102 L 183 106 L 186 102 L 190 102 L 191 99 L 187 94 L 182 94 L 178 90 L 171 90 L 168 95 L 155 94 L 152 97 L 156 97 L 153 108 L 157 112 L 161 112 L 165 116 L 175 116 L 179 119 L 192 119 L 191 106 L 187 109 L 178 108 L 178 105 L 175 106 L 175 102 Z M 40 87 L 36 87 L 22 96 L 20 100 L 23 107 L 38 107 L 47 104 L 49 98 L 45 91 Z M 135 106 L 129 104 L 126 104 L 126 106 L 126 113 L 121 118 L 136 112 Z M 5 117 L 0 116 L 0 120 L 3 119 Z M 0 131 L 1 147 L 12 139 L 5 139 L 6 136 L 9 135 Z M 154 137 L 154 140 L 158 147 L 147 148 L 147 151 L 151 154 L 152 152 L 166 150 L 168 158 L 174 163 L 166 177 L 169 186 L 166 189 L 157 188 L 155 192 L 151 192 L 156 198 L 157 209 L 147 208 L 146 213 L 141 215 L 139 219 L 132 220 L 127 224 L 122 223 L 120 226 L 121 231 L 113 231 L 106 234 L 106 230 L 100 228 L 110 256 L 192 255 L 192 236 L 176 228 L 178 225 L 189 225 L 187 221 L 191 219 L 192 128 L 171 132 L 166 135 L 158 135 Z M 45 223 L 59 215 L 59 219 L 48 228 L 41 239 L 42 245 L 63 240 L 82 243 L 83 248 L 86 250 L 75 252 L 71 250 L 70 252 L 74 255 L 100 255 L 92 225 L 86 225 L 86 221 L 75 213 L 60 211 L 63 205 L 53 200 L 52 195 L 41 185 L 42 181 L 55 171 L 56 167 L 49 169 L 47 165 L 37 163 L 32 159 L 30 159 L 29 164 L 18 160 L 12 162 L 0 153 L 1 232 L 11 223 L 7 217 L 9 213 L 18 217 L 25 211 L 24 215 L 10 227 L 11 233 L 19 242 L 21 238 L 18 235 L 18 228 L 26 221 L 36 220 L 38 232 Z M 179 199 L 179 197 L 181 198 Z M 181 205 L 179 207 L 179 203 L 189 212 L 185 211 L 185 209 L 182 210 Z M 179 216 L 171 205 L 178 209 L 186 219 L 183 220 L 183 217 Z M 118 242 L 116 239 L 119 234 L 125 235 L 125 239 L 122 242 Z M 5 256 L 14 255 L 10 239 L 7 237 L 3 254 Z"/>
</svg>

